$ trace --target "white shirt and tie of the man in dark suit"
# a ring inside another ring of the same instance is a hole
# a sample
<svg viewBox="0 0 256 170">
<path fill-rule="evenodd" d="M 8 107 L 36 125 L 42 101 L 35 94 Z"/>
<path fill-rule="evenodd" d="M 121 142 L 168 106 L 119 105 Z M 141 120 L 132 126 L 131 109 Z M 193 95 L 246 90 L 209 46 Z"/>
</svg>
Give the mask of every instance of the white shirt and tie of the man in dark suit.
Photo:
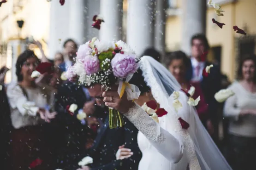
<svg viewBox="0 0 256 170">
<path fill-rule="evenodd" d="M 205 68 L 205 62 L 198 62 L 194 57 L 191 57 L 191 64 L 193 68 L 193 76 L 191 81 L 202 81 L 202 70 Z"/>
</svg>

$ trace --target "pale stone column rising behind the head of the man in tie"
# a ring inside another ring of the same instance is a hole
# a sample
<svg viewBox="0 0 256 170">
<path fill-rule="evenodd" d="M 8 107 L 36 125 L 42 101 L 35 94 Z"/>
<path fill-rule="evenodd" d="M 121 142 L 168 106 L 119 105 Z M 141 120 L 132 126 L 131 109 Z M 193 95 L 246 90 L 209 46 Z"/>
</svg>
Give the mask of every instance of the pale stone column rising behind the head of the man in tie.
<svg viewBox="0 0 256 170">
<path fill-rule="evenodd" d="M 206 0 L 182 0 L 182 8 L 181 48 L 190 55 L 191 37 L 206 31 Z"/>
</svg>

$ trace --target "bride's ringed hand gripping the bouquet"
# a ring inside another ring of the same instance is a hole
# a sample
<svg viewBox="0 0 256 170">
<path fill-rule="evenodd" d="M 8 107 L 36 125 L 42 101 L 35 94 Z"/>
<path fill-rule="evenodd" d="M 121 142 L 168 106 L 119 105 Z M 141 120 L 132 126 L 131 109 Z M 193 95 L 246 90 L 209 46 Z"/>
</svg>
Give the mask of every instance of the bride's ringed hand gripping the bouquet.
<svg viewBox="0 0 256 170">
<path fill-rule="evenodd" d="M 120 98 L 117 88 L 111 88 L 111 90 L 112 91 L 104 91 L 102 94 L 105 105 L 118 110 L 120 113 L 127 113 L 132 107 L 133 103 L 132 101 L 127 100 L 126 92 L 122 98 Z"/>
</svg>

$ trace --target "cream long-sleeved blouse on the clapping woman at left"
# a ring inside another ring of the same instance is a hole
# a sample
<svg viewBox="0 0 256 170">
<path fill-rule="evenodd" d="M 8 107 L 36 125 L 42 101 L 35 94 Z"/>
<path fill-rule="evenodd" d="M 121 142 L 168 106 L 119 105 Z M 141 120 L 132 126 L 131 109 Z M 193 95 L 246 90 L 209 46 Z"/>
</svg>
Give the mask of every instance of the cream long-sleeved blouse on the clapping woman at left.
<svg viewBox="0 0 256 170">
<path fill-rule="evenodd" d="M 7 86 L 6 94 L 11 107 L 12 125 L 15 129 L 45 123 L 36 112 L 39 108 L 53 105 L 53 103 L 48 102 L 53 100 L 47 100 L 47 95 L 43 94 L 40 87 L 24 88 L 24 90 L 27 97 L 17 82 Z"/>
</svg>

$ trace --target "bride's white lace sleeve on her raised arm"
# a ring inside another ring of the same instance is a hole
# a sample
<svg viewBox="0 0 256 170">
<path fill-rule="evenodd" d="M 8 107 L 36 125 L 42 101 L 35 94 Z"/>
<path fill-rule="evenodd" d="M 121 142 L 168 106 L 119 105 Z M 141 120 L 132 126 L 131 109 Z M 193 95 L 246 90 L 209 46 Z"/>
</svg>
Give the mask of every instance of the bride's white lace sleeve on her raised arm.
<svg viewBox="0 0 256 170">
<path fill-rule="evenodd" d="M 184 153 L 184 146 L 181 140 L 162 129 L 158 123 L 135 103 L 124 115 L 166 159 L 173 163 L 179 162 Z"/>
</svg>

